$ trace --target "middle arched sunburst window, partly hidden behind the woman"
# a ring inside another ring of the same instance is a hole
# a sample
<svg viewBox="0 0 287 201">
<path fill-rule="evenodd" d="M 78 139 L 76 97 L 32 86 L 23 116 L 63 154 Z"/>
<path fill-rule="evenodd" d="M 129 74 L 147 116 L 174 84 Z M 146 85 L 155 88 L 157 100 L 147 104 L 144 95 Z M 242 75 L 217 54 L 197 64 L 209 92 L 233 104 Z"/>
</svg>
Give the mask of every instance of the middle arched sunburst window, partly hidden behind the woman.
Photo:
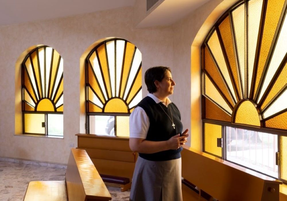
<svg viewBox="0 0 287 201">
<path fill-rule="evenodd" d="M 86 58 L 88 133 L 129 136 L 129 114 L 141 98 L 139 49 L 124 39 L 98 44 Z"/>
</svg>

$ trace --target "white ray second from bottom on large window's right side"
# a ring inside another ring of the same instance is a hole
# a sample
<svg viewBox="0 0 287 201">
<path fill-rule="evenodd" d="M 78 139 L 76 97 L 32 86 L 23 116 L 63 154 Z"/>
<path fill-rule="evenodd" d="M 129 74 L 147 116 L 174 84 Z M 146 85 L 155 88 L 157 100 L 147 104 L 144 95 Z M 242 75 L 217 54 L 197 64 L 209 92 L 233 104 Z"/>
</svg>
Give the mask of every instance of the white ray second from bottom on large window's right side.
<svg viewBox="0 0 287 201">
<path fill-rule="evenodd" d="M 276 101 L 263 113 L 264 118 L 267 118 L 281 110 L 287 108 L 287 89 L 276 99 Z"/>
</svg>

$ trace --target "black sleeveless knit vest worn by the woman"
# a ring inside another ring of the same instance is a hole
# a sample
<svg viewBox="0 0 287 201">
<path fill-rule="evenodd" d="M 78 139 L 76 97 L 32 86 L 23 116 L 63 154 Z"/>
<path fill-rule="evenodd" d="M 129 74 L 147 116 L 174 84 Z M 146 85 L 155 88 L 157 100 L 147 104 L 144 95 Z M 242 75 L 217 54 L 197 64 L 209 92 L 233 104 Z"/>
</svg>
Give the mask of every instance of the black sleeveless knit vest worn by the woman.
<svg viewBox="0 0 287 201">
<path fill-rule="evenodd" d="M 166 106 L 161 102 L 157 104 L 151 97 L 147 96 L 142 99 L 137 106 L 144 109 L 150 120 L 150 127 L 148 129 L 146 140 L 166 141 L 172 136 L 182 133 L 183 125 L 181 123 L 181 114 L 175 104 L 170 103 L 168 104 L 168 108 L 166 108 Z M 171 120 L 168 118 L 168 116 L 171 118 L 170 110 L 172 112 L 175 129 L 172 126 Z M 181 158 L 180 152 L 182 149 L 183 148 L 180 147 L 177 150 L 166 150 L 153 154 L 139 153 L 139 156 L 151 161 L 172 160 Z"/>
</svg>

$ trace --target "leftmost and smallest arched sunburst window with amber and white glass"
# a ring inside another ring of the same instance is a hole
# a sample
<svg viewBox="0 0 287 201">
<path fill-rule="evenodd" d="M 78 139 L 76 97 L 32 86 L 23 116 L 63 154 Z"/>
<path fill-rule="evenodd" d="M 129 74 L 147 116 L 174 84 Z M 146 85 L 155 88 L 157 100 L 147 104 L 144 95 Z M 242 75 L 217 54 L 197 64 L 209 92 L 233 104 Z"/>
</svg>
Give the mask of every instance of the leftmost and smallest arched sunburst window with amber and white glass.
<svg viewBox="0 0 287 201">
<path fill-rule="evenodd" d="M 23 133 L 63 136 L 63 58 L 33 49 L 22 63 Z"/>
</svg>

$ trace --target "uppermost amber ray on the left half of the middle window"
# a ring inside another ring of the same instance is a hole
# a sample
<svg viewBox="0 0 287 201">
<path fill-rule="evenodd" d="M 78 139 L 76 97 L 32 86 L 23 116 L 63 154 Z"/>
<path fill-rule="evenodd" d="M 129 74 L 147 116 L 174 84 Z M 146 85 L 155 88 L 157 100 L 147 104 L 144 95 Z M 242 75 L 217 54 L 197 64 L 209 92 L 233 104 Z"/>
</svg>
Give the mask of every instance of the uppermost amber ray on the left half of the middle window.
<svg viewBox="0 0 287 201">
<path fill-rule="evenodd" d="M 104 83 L 105 83 L 106 88 L 107 88 L 108 97 L 111 97 L 110 77 L 108 76 L 109 72 L 108 72 L 108 65 L 107 65 L 107 60 L 106 60 L 106 50 L 105 50 L 104 44 L 102 44 L 100 47 L 98 47 L 97 51 L 98 51 L 98 55 L 99 55 L 100 64 L 102 67 L 102 72 L 104 75 L 103 78 L 104 78 Z"/>
</svg>

